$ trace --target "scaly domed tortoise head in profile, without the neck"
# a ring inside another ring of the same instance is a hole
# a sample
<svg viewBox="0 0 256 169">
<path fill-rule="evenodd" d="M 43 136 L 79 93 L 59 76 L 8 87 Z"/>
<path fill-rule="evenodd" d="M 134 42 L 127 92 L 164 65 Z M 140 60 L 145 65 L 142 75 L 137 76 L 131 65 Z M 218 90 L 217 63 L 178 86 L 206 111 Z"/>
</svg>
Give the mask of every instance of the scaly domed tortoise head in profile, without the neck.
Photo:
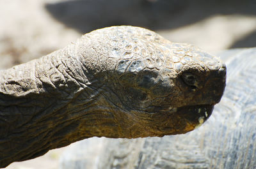
<svg viewBox="0 0 256 169">
<path fill-rule="evenodd" d="M 218 57 L 140 27 L 110 27 L 102 38 L 114 44 L 102 66 L 109 69 L 100 72 L 124 137 L 186 133 L 220 101 L 226 68 Z"/>
</svg>

